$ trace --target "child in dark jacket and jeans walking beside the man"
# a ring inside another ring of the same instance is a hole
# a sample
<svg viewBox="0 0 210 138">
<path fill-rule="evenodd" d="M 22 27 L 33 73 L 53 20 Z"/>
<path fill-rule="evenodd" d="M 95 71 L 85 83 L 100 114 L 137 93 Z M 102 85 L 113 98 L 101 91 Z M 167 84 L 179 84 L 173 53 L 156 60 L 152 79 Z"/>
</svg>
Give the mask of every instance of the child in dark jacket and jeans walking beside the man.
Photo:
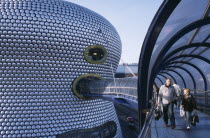
<svg viewBox="0 0 210 138">
<path fill-rule="evenodd" d="M 184 108 L 185 111 L 187 129 L 190 130 L 192 122 L 192 111 L 197 110 L 197 105 L 194 97 L 192 96 L 192 94 L 190 94 L 189 89 L 184 89 L 184 96 L 181 102 L 181 106 Z"/>
</svg>

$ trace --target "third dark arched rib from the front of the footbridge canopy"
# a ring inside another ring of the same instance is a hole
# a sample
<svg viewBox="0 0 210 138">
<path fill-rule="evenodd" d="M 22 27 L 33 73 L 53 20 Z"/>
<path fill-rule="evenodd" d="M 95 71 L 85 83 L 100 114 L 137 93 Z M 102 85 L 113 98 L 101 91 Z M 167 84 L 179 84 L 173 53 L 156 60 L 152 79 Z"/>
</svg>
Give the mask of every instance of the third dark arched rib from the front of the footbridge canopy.
<svg viewBox="0 0 210 138">
<path fill-rule="evenodd" d="M 184 45 L 180 48 L 177 48 L 173 51 L 171 51 L 169 54 L 167 54 L 163 59 L 162 59 L 162 63 L 165 62 L 166 60 L 168 60 L 171 56 L 175 55 L 176 53 L 182 51 L 182 50 L 185 50 L 185 49 L 188 49 L 188 48 L 192 48 L 192 47 L 210 47 L 210 43 L 192 43 L 192 44 L 189 44 L 189 45 Z"/>
</svg>

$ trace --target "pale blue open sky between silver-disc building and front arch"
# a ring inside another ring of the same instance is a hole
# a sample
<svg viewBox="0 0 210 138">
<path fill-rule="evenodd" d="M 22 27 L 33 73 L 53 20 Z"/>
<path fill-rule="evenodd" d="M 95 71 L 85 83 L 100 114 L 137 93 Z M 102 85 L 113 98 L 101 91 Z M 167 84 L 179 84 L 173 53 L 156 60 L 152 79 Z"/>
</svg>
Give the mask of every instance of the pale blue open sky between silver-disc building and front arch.
<svg viewBox="0 0 210 138">
<path fill-rule="evenodd" d="M 109 20 L 122 41 L 121 59 L 138 63 L 149 25 L 162 0 L 67 0 L 91 9 Z"/>
</svg>

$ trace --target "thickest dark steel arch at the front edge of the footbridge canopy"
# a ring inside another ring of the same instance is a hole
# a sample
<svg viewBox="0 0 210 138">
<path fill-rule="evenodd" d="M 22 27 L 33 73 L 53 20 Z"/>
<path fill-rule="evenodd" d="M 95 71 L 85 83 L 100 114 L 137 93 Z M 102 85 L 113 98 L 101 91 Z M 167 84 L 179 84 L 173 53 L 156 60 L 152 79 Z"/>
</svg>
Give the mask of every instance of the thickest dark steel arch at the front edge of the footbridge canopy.
<svg viewBox="0 0 210 138">
<path fill-rule="evenodd" d="M 138 108 L 139 108 L 139 130 L 141 130 L 146 114 L 142 111 L 149 108 L 149 99 L 152 98 L 152 91 L 148 91 L 148 68 L 154 49 L 155 43 L 159 37 L 159 34 L 170 17 L 171 13 L 177 7 L 181 0 L 171 1 L 165 0 L 158 9 L 154 19 L 148 29 L 147 35 L 144 39 L 144 43 L 141 48 L 141 54 L 139 58 L 138 70 Z M 150 84 L 152 87 L 152 84 Z M 152 89 L 152 88 L 151 88 Z M 150 90 L 151 90 L 150 89 Z M 140 92 L 142 91 L 142 92 Z M 148 96 L 149 95 L 149 96 Z M 148 98 L 149 97 L 149 98 Z M 140 135 L 141 136 L 141 135 Z"/>
</svg>

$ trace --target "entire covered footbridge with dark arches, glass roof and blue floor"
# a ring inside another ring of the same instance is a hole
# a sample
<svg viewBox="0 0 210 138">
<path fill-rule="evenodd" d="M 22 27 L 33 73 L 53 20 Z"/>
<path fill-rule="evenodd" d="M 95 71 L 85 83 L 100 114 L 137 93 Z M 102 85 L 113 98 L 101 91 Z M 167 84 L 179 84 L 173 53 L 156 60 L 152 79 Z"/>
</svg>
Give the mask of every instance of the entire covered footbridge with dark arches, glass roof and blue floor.
<svg viewBox="0 0 210 138">
<path fill-rule="evenodd" d="M 210 132 L 210 1 L 165 0 L 145 37 L 139 59 L 139 137 L 206 137 Z M 200 124 L 189 133 L 175 110 L 175 130 L 153 119 L 153 84 L 166 78 L 189 88 L 199 109 Z M 147 116 L 144 112 L 149 109 Z"/>
</svg>

